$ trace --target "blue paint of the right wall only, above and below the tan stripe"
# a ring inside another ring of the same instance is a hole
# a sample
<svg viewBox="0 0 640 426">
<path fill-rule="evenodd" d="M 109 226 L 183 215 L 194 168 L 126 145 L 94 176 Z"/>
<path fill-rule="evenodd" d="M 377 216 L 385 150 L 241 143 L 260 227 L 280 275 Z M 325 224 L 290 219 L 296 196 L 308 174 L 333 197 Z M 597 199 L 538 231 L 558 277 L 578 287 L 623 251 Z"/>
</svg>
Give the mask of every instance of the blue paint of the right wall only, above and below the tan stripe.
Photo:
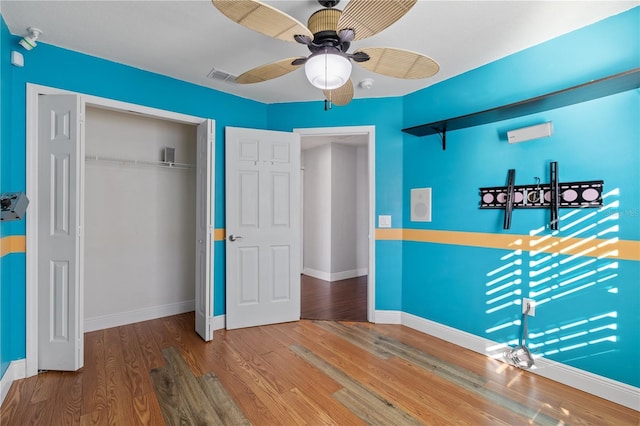
<svg viewBox="0 0 640 426">
<path fill-rule="evenodd" d="M 640 66 L 640 8 L 535 46 L 405 97 L 405 126 L 455 117 Z M 507 130 L 552 121 L 551 138 L 510 145 Z M 433 188 L 433 222 L 405 228 L 558 238 L 640 239 L 640 93 L 631 90 L 526 117 L 403 141 L 404 203 Z M 480 210 L 480 187 L 604 180 L 605 208 Z M 584 244 L 589 249 L 593 244 Z M 489 246 L 488 246 L 489 247 Z M 517 248 L 517 247 L 516 247 Z M 529 320 L 537 354 L 640 386 L 640 262 L 615 256 L 550 256 L 452 244 L 405 242 L 402 309 L 498 342 L 517 344 L 522 297 L 542 302 Z M 511 284 L 511 285 L 509 285 Z M 504 287 L 504 288 L 502 288 Z M 515 303 L 514 303 L 515 302 Z"/>
</svg>

